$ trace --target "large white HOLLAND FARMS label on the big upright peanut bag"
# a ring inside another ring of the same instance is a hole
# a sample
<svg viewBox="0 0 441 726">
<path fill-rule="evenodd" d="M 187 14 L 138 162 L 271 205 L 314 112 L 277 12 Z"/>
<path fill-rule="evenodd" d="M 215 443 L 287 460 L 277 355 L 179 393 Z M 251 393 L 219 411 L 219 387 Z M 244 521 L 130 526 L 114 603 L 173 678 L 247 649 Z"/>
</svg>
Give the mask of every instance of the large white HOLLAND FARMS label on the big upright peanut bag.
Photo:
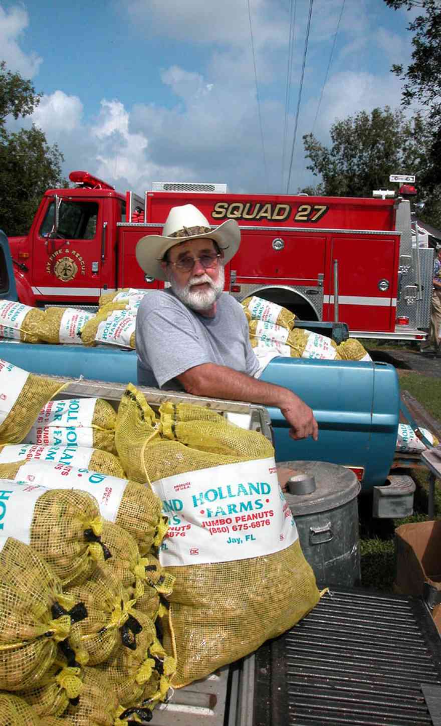
<svg viewBox="0 0 441 726">
<path fill-rule="evenodd" d="M 170 525 L 163 567 L 270 555 L 298 537 L 273 457 L 168 476 L 152 487 Z"/>
</svg>

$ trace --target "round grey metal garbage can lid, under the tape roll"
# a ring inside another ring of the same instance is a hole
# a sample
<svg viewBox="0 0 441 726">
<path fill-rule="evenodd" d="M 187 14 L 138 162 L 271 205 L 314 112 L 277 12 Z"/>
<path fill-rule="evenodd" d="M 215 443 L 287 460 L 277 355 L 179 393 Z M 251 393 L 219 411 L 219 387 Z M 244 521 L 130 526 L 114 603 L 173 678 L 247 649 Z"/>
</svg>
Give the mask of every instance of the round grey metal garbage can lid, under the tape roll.
<svg viewBox="0 0 441 726">
<path fill-rule="evenodd" d="M 316 489 L 310 494 L 289 494 L 285 497 L 294 516 L 325 512 L 341 507 L 360 492 L 361 485 L 350 469 L 338 464 L 322 461 L 283 461 L 277 462 L 277 469 L 283 469 L 284 478 L 292 470 L 292 474 L 305 474 L 314 477 Z"/>
</svg>

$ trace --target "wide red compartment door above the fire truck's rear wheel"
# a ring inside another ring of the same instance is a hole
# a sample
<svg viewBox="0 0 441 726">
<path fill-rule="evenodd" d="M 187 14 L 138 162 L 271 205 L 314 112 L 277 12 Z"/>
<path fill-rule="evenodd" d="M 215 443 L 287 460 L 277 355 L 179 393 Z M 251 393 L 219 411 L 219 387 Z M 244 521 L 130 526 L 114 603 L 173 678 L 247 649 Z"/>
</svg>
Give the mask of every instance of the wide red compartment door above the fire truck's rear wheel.
<svg viewBox="0 0 441 726">
<path fill-rule="evenodd" d="M 241 228 L 242 241 L 231 261 L 238 284 L 317 285 L 325 271 L 326 239 L 285 229 Z"/>
</svg>

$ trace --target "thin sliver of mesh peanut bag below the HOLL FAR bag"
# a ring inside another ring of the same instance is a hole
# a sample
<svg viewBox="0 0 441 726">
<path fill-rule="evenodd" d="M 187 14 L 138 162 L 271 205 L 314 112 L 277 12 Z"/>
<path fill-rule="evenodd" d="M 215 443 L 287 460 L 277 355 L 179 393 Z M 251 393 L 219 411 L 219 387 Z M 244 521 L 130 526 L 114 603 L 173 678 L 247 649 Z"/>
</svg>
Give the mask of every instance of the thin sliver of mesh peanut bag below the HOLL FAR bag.
<svg viewBox="0 0 441 726">
<path fill-rule="evenodd" d="M 40 446 L 39 444 L 4 444 L 0 446 L 0 464 L 18 461 L 44 461 L 88 468 L 100 474 L 124 478 L 120 461 L 110 452 L 88 446 Z"/>
</svg>

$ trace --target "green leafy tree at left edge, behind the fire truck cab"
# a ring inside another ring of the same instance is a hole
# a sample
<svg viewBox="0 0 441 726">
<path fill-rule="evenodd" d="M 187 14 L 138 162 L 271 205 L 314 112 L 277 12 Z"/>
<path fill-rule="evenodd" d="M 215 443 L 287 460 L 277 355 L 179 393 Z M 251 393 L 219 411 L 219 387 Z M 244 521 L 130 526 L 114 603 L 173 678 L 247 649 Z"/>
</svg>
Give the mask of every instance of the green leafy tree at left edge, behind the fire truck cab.
<svg viewBox="0 0 441 726">
<path fill-rule="evenodd" d="M 46 189 L 66 186 L 57 144 L 49 146 L 36 126 L 6 129 L 8 115 L 30 115 L 40 98 L 30 81 L 0 63 L 0 229 L 9 235 L 28 232 Z"/>
</svg>

